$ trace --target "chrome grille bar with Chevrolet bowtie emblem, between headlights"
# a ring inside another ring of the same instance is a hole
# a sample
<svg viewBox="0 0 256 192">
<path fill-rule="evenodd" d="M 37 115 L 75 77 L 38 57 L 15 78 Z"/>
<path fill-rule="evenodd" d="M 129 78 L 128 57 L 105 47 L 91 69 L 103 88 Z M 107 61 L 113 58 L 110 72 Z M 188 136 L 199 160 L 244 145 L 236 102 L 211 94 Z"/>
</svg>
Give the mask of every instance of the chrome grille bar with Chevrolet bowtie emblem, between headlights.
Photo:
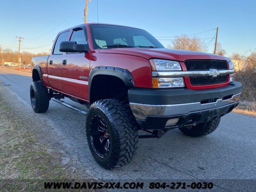
<svg viewBox="0 0 256 192">
<path fill-rule="evenodd" d="M 234 69 L 208 71 L 153 71 L 152 77 L 203 77 L 233 74 Z"/>
</svg>

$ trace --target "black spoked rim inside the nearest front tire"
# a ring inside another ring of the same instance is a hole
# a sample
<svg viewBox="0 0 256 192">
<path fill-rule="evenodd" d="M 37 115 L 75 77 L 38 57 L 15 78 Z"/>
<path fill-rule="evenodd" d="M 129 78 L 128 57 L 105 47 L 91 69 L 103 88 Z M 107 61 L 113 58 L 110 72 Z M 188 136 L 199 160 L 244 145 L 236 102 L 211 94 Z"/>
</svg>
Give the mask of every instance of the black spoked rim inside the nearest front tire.
<svg viewBox="0 0 256 192">
<path fill-rule="evenodd" d="M 94 115 L 89 124 L 90 140 L 94 152 L 101 158 L 110 150 L 110 135 L 106 121 L 100 115 Z"/>
</svg>

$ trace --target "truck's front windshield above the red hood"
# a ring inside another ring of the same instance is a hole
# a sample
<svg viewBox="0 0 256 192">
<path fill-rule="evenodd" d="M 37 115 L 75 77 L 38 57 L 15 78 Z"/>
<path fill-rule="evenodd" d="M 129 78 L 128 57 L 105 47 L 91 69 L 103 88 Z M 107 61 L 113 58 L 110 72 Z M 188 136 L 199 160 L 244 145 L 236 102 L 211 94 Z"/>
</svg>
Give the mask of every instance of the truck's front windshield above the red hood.
<svg viewBox="0 0 256 192">
<path fill-rule="evenodd" d="M 107 48 L 164 48 L 150 33 L 135 28 L 112 26 L 112 25 L 90 25 L 94 49 Z"/>
</svg>

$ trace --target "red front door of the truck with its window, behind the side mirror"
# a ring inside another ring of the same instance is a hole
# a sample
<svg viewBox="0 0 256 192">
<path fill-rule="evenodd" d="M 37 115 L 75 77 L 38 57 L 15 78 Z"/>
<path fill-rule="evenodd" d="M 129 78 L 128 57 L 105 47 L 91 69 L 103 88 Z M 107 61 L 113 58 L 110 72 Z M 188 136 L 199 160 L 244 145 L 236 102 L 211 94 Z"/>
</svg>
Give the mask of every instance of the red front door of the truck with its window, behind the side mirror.
<svg viewBox="0 0 256 192">
<path fill-rule="evenodd" d="M 87 44 L 86 28 L 74 28 L 70 41 Z M 62 58 L 62 86 L 64 93 L 89 101 L 88 77 L 90 53 L 66 53 Z"/>
</svg>

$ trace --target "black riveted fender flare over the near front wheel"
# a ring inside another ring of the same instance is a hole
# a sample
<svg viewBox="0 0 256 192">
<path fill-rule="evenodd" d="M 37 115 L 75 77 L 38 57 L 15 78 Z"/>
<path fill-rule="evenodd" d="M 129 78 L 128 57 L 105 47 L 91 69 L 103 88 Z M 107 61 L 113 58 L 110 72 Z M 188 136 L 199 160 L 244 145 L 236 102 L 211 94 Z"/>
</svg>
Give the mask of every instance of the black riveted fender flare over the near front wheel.
<svg viewBox="0 0 256 192">
<path fill-rule="evenodd" d="M 110 66 L 98 66 L 93 68 L 90 71 L 89 74 L 89 97 L 90 97 L 90 90 L 91 90 L 91 85 L 92 85 L 92 80 L 94 76 L 96 75 L 109 75 L 109 76 L 115 76 L 120 78 L 124 84 L 128 87 L 134 87 L 134 80 L 132 78 L 132 74 L 130 71 L 123 69 L 123 68 L 118 68 L 118 67 L 110 67 Z"/>
</svg>

